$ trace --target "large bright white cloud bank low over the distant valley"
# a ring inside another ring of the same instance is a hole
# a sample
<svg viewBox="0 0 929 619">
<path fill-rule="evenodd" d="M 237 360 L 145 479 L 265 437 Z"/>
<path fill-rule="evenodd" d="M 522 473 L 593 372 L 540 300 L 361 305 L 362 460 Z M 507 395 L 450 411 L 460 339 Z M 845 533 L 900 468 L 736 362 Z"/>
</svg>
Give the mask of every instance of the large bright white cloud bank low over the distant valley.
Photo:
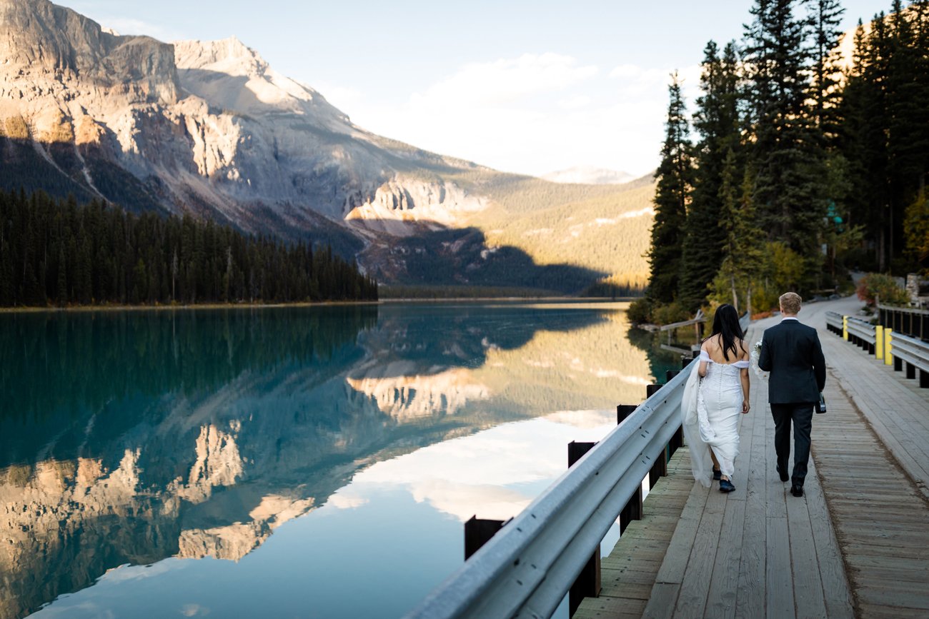
<svg viewBox="0 0 929 619">
<path fill-rule="evenodd" d="M 659 161 L 671 68 L 608 73 L 558 54 L 465 64 L 399 103 L 350 88 L 320 92 L 355 123 L 505 172 L 588 165 L 647 174 Z M 688 109 L 698 66 L 682 68 Z"/>
</svg>

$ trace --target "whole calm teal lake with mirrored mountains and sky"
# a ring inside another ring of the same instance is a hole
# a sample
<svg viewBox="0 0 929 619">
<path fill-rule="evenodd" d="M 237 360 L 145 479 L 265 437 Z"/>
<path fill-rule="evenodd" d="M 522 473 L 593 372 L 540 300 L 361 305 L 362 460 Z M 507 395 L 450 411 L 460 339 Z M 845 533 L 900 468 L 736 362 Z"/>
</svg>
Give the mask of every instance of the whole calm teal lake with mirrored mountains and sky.
<svg viewBox="0 0 929 619">
<path fill-rule="evenodd" d="M 624 308 L 0 315 L 0 619 L 399 617 L 679 367 Z"/>
</svg>

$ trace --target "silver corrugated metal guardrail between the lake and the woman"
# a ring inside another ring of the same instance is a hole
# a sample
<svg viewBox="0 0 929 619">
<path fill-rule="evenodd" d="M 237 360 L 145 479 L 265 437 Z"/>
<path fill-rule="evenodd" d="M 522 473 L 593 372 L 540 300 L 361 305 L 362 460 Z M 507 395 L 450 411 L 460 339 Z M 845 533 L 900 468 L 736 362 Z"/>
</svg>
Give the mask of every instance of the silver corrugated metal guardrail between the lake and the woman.
<svg viewBox="0 0 929 619">
<path fill-rule="evenodd" d="M 548 617 L 654 459 L 680 428 L 684 385 L 668 381 L 491 537 L 408 617 Z"/>
</svg>

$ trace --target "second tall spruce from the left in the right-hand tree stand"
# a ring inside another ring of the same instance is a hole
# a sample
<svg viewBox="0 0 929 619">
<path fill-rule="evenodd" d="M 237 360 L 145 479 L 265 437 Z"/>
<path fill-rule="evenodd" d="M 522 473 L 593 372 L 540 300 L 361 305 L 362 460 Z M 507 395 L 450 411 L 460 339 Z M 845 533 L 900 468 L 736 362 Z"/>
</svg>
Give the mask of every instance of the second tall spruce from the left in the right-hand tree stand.
<svg viewBox="0 0 929 619">
<path fill-rule="evenodd" d="M 710 41 L 703 50 L 700 89 L 694 127 L 700 135 L 694 149 L 697 162 L 692 200 L 687 209 L 687 234 L 681 266 L 680 299 L 696 310 L 706 299 L 723 261 L 723 227 L 720 191 L 726 157 L 738 165 L 740 151 L 739 58 L 735 43 L 719 54 Z"/>
</svg>

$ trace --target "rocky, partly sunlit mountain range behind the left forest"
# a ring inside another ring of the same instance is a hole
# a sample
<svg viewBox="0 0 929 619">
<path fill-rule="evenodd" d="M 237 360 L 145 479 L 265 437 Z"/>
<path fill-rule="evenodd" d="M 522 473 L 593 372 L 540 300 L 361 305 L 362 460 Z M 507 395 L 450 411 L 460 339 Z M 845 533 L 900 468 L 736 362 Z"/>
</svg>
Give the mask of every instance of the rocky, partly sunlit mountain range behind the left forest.
<svg viewBox="0 0 929 619">
<path fill-rule="evenodd" d="M 0 58 L 0 187 L 309 237 L 387 282 L 578 291 L 645 271 L 647 238 L 606 262 L 552 264 L 531 235 L 495 244 L 489 224 L 607 194 L 614 217 L 629 187 L 556 186 L 374 135 L 235 38 L 171 45 L 0 0 Z M 513 213 L 520 193 L 530 204 Z"/>
</svg>

